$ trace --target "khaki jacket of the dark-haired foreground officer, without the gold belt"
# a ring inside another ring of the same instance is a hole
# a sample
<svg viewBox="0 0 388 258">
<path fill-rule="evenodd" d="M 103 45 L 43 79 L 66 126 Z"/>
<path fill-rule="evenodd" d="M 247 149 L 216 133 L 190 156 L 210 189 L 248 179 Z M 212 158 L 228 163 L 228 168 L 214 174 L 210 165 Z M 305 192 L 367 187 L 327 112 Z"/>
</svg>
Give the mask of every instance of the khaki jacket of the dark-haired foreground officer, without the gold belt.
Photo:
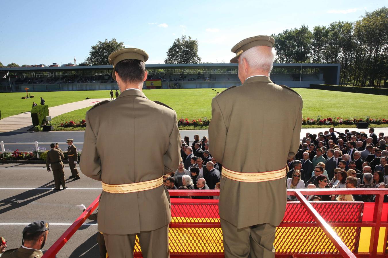
<svg viewBox="0 0 388 258">
<path fill-rule="evenodd" d="M 180 135 L 174 110 L 143 92 L 123 91 L 118 98 L 86 114 L 80 169 L 107 184 L 129 184 L 175 172 Z M 98 229 L 106 234 L 135 234 L 171 221 L 168 191 L 162 186 L 134 193 L 102 191 Z"/>
</svg>

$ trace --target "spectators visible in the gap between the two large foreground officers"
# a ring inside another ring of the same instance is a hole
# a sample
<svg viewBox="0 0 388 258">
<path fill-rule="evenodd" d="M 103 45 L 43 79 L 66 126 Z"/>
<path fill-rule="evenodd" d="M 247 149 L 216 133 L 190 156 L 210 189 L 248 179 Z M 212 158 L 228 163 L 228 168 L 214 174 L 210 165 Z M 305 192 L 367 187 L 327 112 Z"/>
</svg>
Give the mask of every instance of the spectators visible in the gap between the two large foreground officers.
<svg viewBox="0 0 388 258">
<path fill-rule="evenodd" d="M 163 183 L 170 190 L 217 190 L 220 189 L 222 165 L 209 152 L 207 137 L 194 135 L 190 144 L 188 136 L 181 139 L 181 160 L 175 173 L 165 174 Z M 171 196 L 179 198 L 218 199 L 218 196 Z"/>
</svg>

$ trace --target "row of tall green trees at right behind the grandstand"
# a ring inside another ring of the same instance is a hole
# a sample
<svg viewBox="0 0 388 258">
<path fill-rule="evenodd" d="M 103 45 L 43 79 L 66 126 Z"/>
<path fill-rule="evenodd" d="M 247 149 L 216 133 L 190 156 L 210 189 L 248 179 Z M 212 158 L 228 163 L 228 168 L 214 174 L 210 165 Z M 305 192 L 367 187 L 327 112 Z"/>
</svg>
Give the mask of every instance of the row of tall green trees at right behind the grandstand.
<svg viewBox="0 0 388 258">
<path fill-rule="evenodd" d="M 277 63 L 340 63 L 340 84 L 380 86 L 388 80 L 388 8 L 355 22 L 286 29 L 275 38 Z"/>
</svg>

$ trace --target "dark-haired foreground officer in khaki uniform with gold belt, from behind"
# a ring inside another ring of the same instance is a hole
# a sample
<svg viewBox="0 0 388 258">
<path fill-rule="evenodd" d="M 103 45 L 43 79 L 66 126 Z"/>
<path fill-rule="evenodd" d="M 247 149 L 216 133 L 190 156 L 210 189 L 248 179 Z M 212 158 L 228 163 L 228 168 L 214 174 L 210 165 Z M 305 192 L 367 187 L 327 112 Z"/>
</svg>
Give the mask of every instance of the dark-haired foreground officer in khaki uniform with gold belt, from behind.
<svg viewBox="0 0 388 258">
<path fill-rule="evenodd" d="M 110 258 L 133 257 L 136 235 L 145 258 L 169 256 L 171 204 L 163 174 L 178 168 L 180 135 L 175 111 L 142 92 L 147 59 L 137 48 L 111 53 L 121 94 L 95 105 L 85 118 L 80 168 L 102 181 L 98 230 Z"/>
</svg>

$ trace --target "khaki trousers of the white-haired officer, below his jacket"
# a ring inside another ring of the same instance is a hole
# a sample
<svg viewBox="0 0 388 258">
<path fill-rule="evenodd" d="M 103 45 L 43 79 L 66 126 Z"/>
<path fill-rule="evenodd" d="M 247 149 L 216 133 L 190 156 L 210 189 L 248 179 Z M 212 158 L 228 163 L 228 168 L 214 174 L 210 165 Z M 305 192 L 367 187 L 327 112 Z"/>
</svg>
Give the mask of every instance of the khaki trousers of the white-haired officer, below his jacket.
<svg viewBox="0 0 388 258">
<path fill-rule="evenodd" d="M 237 229 L 226 220 L 220 221 L 225 258 L 275 257 L 275 226 L 265 223 Z"/>
</svg>

